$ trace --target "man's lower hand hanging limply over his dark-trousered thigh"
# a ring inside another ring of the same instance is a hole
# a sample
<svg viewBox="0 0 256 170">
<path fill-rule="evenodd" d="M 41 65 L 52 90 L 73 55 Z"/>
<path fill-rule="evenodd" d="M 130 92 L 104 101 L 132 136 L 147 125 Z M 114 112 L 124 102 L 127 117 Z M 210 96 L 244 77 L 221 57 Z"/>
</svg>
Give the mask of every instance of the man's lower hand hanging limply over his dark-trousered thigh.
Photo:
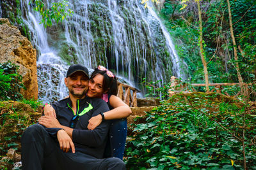
<svg viewBox="0 0 256 170">
<path fill-rule="evenodd" d="M 68 136 L 67 132 L 61 129 L 57 132 L 57 138 L 60 143 L 60 149 L 63 150 L 63 152 L 68 152 L 71 148 L 72 153 L 75 153 L 75 145 L 72 141 L 72 139 Z"/>
</svg>

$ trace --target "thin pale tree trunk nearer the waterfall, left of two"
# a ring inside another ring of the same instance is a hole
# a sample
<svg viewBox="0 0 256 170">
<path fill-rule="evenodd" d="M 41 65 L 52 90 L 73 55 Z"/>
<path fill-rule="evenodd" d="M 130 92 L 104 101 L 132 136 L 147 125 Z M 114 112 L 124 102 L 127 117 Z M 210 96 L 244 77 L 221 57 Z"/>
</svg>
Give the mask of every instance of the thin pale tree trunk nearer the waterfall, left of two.
<svg viewBox="0 0 256 170">
<path fill-rule="evenodd" d="M 198 17 L 199 17 L 199 43 L 200 43 L 200 56 L 201 56 L 201 60 L 204 66 L 204 78 L 205 78 L 205 89 L 206 92 L 209 93 L 210 89 L 209 89 L 209 78 L 208 78 L 208 71 L 207 71 L 207 63 L 205 61 L 205 57 L 204 57 L 204 48 L 203 48 L 203 29 L 202 29 L 202 12 L 201 12 L 201 8 L 200 8 L 200 1 L 199 0 L 195 0 L 197 3 L 197 8 L 198 8 Z"/>
</svg>

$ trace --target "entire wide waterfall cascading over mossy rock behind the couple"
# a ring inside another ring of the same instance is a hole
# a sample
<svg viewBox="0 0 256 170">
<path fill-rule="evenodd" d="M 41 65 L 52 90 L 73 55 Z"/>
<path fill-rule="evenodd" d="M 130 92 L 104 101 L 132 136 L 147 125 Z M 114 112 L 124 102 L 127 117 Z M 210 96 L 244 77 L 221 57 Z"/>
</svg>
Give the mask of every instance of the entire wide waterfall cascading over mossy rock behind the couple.
<svg viewBox="0 0 256 170">
<path fill-rule="evenodd" d="M 53 1 L 59 0 L 45 3 Z M 172 75 L 185 78 L 180 73 L 184 63 L 161 20 L 138 0 L 68 0 L 72 17 L 47 29 L 38 24 L 40 16 L 28 2 L 20 1 L 20 8 L 38 50 L 39 98 L 44 102 L 67 95 L 63 78 L 68 65 L 75 63 L 106 66 L 136 87 L 144 77 L 148 81 L 169 81 Z"/>
</svg>

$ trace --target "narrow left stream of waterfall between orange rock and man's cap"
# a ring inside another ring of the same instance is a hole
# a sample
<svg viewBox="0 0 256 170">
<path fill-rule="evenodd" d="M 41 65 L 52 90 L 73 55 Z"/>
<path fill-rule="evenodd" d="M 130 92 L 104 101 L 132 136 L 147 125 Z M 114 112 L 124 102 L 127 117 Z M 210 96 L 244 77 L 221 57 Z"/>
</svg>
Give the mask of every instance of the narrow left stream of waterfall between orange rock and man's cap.
<svg viewBox="0 0 256 170">
<path fill-rule="evenodd" d="M 26 24 L 35 36 L 32 42 L 39 50 L 39 57 L 37 59 L 37 74 L 38 74 L 38 99 L 40 101 L 54 102 L 68 96 L 67 88 L 64 84 L 65 73 L 68 69 L 67 64 L 59 57 L 55 50 L 49 47 L 47 41 L 47 32 L 44 25 L 39 24 L 41 20 L 38 13 L 29 7 L 29 1 L 24 1 L 22 9 L 26 9 L 28 18 Z"/>
</svg>

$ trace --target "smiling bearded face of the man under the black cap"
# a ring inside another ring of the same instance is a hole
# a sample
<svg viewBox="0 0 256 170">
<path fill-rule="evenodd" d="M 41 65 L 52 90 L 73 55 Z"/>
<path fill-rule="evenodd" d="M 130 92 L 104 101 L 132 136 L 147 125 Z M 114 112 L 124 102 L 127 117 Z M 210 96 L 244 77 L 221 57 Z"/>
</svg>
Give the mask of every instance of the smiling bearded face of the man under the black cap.
<svg viewBox="0 0 256 170">
<path fill-rule="evenodd" d="M 83 98 L 88 89 L 88 81 L 87 76 L 81 71 L 77 71 L 65 78 L 65 85 L 68 87 L 69 95 L 78 99 Z"/>
</svg>

